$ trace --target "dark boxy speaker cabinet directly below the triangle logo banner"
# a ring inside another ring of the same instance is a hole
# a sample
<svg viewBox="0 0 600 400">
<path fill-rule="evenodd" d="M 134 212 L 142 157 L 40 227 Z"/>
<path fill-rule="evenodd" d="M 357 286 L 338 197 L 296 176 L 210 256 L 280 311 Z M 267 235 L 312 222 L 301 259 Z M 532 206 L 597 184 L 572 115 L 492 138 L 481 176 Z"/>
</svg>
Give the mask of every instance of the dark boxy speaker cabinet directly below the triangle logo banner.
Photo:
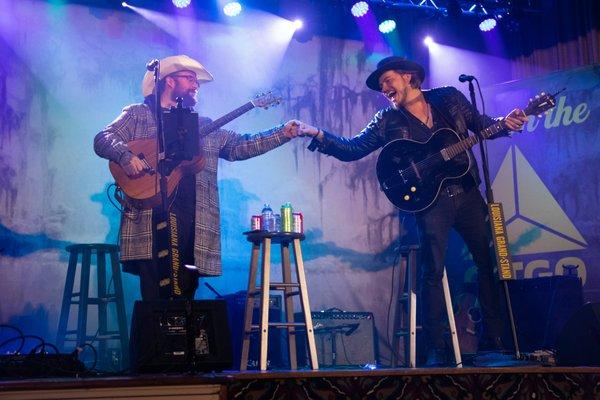
<svg viewBox="0 0 600 400">
<path fill-rule="evenodd" d="M 555 348 L 562 327 L 583 304 L 581 280 L 551 276 L 509 281 L 521 351 Z"/>
</svg>

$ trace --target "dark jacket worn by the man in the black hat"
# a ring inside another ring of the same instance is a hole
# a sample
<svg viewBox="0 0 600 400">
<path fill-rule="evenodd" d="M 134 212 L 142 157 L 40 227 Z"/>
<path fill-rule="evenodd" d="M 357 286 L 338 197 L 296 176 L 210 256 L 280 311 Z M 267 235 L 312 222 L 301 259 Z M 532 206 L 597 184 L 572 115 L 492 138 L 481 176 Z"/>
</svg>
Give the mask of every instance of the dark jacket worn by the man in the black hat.
<svg viewBox="0 0 600 400">
<path fill-rule="evenodd" d="M 477 129 L 478 116 L 480 116 L 482 127 L 488 127 L 496 122 L 487 115 L 480 115 L 467 98 L 454 87 L 424 90 L 423 95 L 425 100 L 443 116 L 445 124 L 449 125 L 462 138 L 469 135 L 468 130 L 475 131 Z M 319 142 L 313 139 L 308 146 L 309 150 L 318 150 L 342 161 L 358 160 L 392 140 L 411 138 L 406 115 L 392 107 L 379 110 L 367 126 L 353 138 L 336 136 L 329 132 L 323 133 L 323 141 Z M 492 136 L 492 139 L 500 136 L 508 136 L 508 131 L 502 130 Z M 469 150 L 469 155 L 473 160 L 469 172 L 479 185 L 481 181 L 479 171 L 471 150 Z"/>
</svg>

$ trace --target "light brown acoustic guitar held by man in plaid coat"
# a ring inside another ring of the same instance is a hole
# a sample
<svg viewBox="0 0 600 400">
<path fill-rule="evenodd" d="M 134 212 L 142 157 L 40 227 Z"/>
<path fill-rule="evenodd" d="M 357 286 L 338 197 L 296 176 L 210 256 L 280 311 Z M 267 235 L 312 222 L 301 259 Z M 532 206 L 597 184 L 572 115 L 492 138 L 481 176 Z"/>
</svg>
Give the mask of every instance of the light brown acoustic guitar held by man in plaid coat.
<svg viewBox="0 0 600 400">
<path fill-rule="evenodd" d="M 280 97 L 273 96 L 271 92 L 262 94 L 250 100 L 246 104 L 236 108 L 235 110 L 223 115 L 215 121 L 201 126 L 199 129 L 200 138 L 205 137 L 209 133 L 219 129 L 228 122 L 233 121 L 239 116 L 247 113 L 255 107 L 261 107 L 264 109 L 270 106 L 279 104 L 281 102 Z M 161 201 L 160 192 L 160 174 L 158 173 L 157 166 L 157 139 L 140 139 L 133 140 L 127 143 L 129 150 L 145 164 L 145 168 L 136 176 L 128 176 L 125 170 L 116 162 L 109 162 L 110 173 L 117 185 L 122 189 L 126 195 L 126 203 L 129 206 L 133 206 L 138 209 L 150 209 L 156 207 Z M 171 168 L 171 172 L 167 178 L 167 196 L 171 196 L 177 185 L 181 181 L 181 178 L 187 174 L 196 174 L 200 172 L 206 165 L 206 160 L 202 154 L 192 158 L 191 160 L 184 160 L 178 163 L 174 168 Z"/>
</svg>

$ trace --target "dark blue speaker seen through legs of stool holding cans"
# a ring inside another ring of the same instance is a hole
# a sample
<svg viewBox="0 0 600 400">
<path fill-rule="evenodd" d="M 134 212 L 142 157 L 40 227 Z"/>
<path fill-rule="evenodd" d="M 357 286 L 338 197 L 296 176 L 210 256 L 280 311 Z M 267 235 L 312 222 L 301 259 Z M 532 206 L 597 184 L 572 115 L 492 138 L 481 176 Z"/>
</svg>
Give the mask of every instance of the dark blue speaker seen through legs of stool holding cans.
<svg viewBox="0 0 600 400">
<path fill-rule="evenodd" d="M 242 356 L 242 333 L 244 330 L 244 313 L 246 312 L 246 291 L 241 290 L 236 293 L 223 296 L 227 301 L 229 310 L 229 326 L 231 327 L 231 347 L 233 349 L 233 367 L 240 367 Z M 254 312 L 252 314 L 252 324 L 258 325 L 260 311 L 260 299 L 254 298 Z M 282 298 L 281 295 L 270 295 L 269 297 L 269 321 L 282 321 Z M 269 329 L 269 352 L 267 355 L 267 366 L 269 368 L 287 368 L 287 351 L 283 351 L 285 345 L 283 329 Z M 258 368 L 259 365 L 259 336 L 258 332 L 250 336 L 250 349 L 248 351 L 248 368 Z"/>
</svg>

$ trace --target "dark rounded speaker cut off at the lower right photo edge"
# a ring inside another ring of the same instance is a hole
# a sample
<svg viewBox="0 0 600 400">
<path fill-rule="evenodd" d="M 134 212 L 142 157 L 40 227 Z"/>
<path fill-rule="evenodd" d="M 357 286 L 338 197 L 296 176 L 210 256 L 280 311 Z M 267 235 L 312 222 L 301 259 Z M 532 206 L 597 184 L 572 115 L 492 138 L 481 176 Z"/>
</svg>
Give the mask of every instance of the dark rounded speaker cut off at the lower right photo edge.
<svg viewBox="0 0 600 400">
<path fill-rule="evenodd" d="M 600 303 L 587 303 L 567 321 L 556 341 L 558 365 L 600 366 Z"/>
</svg>

